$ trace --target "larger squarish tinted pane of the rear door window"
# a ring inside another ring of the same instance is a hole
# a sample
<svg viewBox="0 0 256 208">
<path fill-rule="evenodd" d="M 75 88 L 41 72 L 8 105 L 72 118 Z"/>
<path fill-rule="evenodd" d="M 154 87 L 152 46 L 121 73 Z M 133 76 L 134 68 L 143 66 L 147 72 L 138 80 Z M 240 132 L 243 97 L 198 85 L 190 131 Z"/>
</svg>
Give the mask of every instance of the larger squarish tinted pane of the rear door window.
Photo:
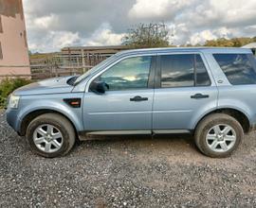
<svg viewBox="0 0 256 208">
<path fill-rule="evenodd" d="M 161 56 L 161 86 L 190 87 L 194 85 L 193 55 Z"/>
</svg>

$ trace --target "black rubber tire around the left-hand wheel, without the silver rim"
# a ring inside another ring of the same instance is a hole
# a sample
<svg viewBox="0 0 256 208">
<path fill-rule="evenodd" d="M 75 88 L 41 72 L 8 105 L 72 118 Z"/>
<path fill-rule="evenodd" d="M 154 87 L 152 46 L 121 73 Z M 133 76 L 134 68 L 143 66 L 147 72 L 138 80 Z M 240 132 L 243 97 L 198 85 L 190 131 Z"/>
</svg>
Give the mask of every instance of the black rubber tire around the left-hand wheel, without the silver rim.
<svg viewBox="0 0 256 208">
<path fill-rule="evenodd" d="M 58 151 L 46 153 L 45 151 L 42 151 L 41 149 L 36 147 L 33 141 L 33 133 L 39 126 L 44 124 L 52 125 L 61 131 L 63 135 L 63 145 Z M 64 116 L 58 113 L 46 113 L 33 119 L 27 127 L 26 137 L 32 151 L 46 158 L 64 156 L 70 151 L 76 141 L 76 133 L 73 126 Z"/>
</svg>

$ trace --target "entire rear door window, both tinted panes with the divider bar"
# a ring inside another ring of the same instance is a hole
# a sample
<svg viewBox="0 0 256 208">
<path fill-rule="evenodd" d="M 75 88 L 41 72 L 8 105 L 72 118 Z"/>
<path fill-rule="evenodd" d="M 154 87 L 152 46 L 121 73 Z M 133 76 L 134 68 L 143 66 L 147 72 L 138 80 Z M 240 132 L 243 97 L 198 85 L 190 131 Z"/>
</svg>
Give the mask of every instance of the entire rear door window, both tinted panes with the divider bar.
<svg viewBox="0 0 256 208">
<path fill-rule="evenodd" d="M 161 56 L 161 87 L 208 86 L 210 78 L 200 55 Z"/>
</svg>

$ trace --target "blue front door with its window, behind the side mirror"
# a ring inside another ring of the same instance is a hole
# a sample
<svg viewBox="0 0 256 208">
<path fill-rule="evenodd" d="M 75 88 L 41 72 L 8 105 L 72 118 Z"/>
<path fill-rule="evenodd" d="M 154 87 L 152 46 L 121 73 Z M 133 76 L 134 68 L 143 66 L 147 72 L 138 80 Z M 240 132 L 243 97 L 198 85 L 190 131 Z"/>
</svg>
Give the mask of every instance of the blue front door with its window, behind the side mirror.
<svg viewBox="0 0 256 208">
<path fill-rule="evenodd" d="M 91 84 L 104 81 L 109 89 L 102 95 L 90 90 L 84 94 L 84 130 L 150 133 L 154 62 L 152 56 L 124 58 L 93 78 Z"/>
</svg>

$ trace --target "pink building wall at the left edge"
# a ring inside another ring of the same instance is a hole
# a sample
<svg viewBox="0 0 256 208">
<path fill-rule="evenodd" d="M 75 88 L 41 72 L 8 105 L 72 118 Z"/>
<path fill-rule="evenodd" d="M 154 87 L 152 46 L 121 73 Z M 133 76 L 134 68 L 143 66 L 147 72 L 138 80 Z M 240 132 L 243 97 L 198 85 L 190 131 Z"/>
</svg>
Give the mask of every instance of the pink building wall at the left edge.
<svg viewBox="0 0 256 208">
<path fill-rule="evenodd" d="M 0 78 L 29 74 L 22 0 L 0 0 Z"/>
</svg>

